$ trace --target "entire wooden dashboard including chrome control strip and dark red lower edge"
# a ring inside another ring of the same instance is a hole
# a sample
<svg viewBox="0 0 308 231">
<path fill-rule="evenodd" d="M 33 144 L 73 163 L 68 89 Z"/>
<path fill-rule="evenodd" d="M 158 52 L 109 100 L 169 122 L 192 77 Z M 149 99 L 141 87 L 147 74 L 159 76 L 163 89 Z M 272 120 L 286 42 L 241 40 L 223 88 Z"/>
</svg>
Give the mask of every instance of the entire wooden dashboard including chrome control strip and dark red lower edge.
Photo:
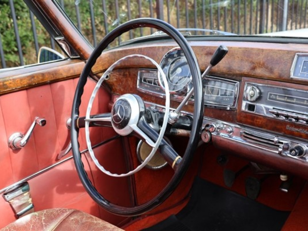
<svg viewBox="0 0 308 231">
<path fill-rule="evenodd" d="M 190 45 L 197 56 L 201 72 L 207 67 L 218 46 L 225 45 L 228 47 L 228 54 L 221 63 L 212 69 L 209 75 L 239 82 L 238 101 L 233 110 L 205 107 L 205 126 L 206 124 L 216 123 L 222 127 L 221 131 L 212 133 L 213 144 L 248 160 L 308 179 L 308 174 L 306 173 L 308 170 L 307 151 L 302 156 L 294 157 L 290 155 L 294 147 L 297 146 L 303 146 L 306 150 L 308 125 L 287 120 L 277 120 L 274 117 L 250 113 L 243 109 L 246 83 L 308 92 L 308 81 L 290 78 L 290 70 L 295 55 L 297 53 L 307 53 L 308 45 L 218 41 L 190 42 Z M 130 45 L 107 51 L 100 57 L 101 59 L 98 60 L 93 71 L 98 74 L 102 69 L 104 71 L 105 68 L 118 59 L 131 54 L 146 55 L 160 63 L 164 54 L 175 46 L 176 44 L 172 42 L 151 43 Z M 100 70 L 96 69 L 98 67 Z M 107 85 L 110 87 L 111 92 L 115 95 L 137 93 L 144 101 L 164 105 L 164 99 L 138 91 L 137 77 L 140 68 L 155 67 L 144 59 L 139 58 L 121 63 L 107 80 Z M 171 102 L 171 107 L 173 108 L 178 105 L 179 102 Z M 186 105 L 184 111 L 192 113 L 193 105 Z M 230 134 L 226 132 L 228 129 L 232 131 Z M 250 129 L 253 131 L 252 135 L 250 134 Z M 247 136 L 243 134 L 254 136 L 252 142 L 246 139 Z M 276 139 L 278 144 L 275 143 Z M 273 142 L 273 144 L 268 145 L 267 143 L 269 142 Z M 288 145 L 287 149 L 286 145 Z M 282 147 L 285 149 L 281 150 Z"/>
</svg>

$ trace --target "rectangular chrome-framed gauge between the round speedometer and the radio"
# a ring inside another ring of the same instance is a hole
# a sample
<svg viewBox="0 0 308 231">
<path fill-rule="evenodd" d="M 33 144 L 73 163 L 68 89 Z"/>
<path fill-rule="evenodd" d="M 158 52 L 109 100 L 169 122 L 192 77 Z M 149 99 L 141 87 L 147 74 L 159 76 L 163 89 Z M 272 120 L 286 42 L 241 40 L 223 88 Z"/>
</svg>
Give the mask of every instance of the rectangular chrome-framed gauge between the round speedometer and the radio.
<svg viewBox="0 0 308 231">
<path fill-rule="evenodd" d="M 207 76 L 203 80 L 205 106 L 235 108 L 238 86 L 237 81 Z"/>
</svg>

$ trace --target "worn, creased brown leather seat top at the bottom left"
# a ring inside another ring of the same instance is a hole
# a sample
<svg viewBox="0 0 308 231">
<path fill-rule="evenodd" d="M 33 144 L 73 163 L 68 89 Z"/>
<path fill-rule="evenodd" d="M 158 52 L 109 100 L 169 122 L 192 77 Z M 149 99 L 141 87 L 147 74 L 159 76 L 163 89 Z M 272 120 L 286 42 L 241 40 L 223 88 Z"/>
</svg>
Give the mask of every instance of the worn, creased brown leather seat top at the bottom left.
<svg viewBox="0 0 308 231">
<path fill-rule="evenodd" d="M 19 218 L 1 231 L 13 230 L 103 230 L 119 231 L 120 229 L 90 214 L 75 209 L 47 209 Z"/>
</svg>

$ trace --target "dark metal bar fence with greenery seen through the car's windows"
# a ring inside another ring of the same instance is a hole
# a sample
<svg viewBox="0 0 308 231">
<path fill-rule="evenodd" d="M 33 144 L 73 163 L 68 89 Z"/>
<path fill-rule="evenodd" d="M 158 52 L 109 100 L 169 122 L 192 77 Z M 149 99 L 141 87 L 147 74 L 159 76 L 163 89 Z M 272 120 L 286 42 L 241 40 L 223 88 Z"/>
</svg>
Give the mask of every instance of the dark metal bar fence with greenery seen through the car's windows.
<svg viewBox="0 0 308 231">
<path fill-rule="evenodd" d="M 54 0 L 76 27 L 96 44 L 117 25 L 133 18 L 160 18 L 177 28 L 263 34 L 308 27 L 308 0 Z M 35 63 L 40 46 L 55 42 L 24 2 L 0 3 L 1 67 Z M 31 28 L 31 29 L 30 29 Z M 119 38 L 148 35 L 153 29 L 130 31 Z M 197 33 L 197 32 L 196 32 Z"/>
</svg>

